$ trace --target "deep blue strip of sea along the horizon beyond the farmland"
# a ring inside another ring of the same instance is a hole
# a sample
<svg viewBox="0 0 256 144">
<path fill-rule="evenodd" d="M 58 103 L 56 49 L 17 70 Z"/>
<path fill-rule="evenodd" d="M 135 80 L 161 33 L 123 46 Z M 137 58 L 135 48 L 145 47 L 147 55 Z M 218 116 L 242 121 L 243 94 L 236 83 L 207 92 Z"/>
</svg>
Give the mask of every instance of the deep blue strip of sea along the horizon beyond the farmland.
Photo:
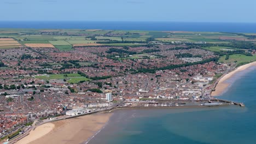
<svg viewBox="0 0 256 144">
<path fill-rule="evenodd" d="M 235 22 L 0 21 L 0 28 L 256 33 L 256 23 Z"/>
</svg>

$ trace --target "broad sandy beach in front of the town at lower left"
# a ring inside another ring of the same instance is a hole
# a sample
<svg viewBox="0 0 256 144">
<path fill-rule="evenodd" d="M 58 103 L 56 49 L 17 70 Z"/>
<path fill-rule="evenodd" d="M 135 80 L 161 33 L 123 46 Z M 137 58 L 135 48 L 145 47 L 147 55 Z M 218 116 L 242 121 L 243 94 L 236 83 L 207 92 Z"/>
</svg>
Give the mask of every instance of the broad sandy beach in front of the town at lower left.
<svg viewBox="0 0 256 144">
<path fill-rule="evenodd" d="M 83 143 L 108 122 L 112 113 L 95 113 L 40 125 L 18 144 Z"/>
</svg>

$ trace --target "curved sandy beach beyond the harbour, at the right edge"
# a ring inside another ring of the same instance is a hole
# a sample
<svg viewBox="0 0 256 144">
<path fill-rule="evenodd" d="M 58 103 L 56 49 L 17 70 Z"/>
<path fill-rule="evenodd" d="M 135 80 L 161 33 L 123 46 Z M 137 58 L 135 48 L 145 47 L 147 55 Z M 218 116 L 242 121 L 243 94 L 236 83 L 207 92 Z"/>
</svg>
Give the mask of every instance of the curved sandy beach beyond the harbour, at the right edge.
<svg viewBox="0 0 256 144">
<path fill-rule="evenodd" d="M 256 62 L 248 63 L 248 64 L 242 65 L 242 66 L 236 68 L 235 70 L 231 71 L 230 73 L 224 75 L 222 77 L 222 79 L 219 80 L 219 82 L 218 82 L 218 84 L 215 88 L 215 91 L 213 91 L 211 93 L 211 96 L 213 96 L 213 97 L 214 96 L 219 96 L 220 94 L 225 92 L 226 88 L 228 88 L 230 86 L 230 83 L 227 82 L 228 79 L 230 79 L 236 73 L 238 73 L 240 71 L 243 71 L 243 70 L 246 70 L 247 68 L 252 67 L 254 65 L 256 65 Z"/>
</svg>

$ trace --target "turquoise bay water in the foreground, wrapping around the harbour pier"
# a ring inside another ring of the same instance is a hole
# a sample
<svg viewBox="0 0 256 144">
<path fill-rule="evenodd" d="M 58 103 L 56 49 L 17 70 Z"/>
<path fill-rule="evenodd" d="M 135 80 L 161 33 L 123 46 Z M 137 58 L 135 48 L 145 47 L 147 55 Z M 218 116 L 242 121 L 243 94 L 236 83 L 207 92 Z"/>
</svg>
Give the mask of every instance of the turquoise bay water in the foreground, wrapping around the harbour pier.
<svg viewBox="0 0 256 144">
<path fill-rule="evenodd" d="M 256 143 L 256 67 L 229 82 L 220 98 L 246 107 L 117 110 L 89 143 Z"/>
</svg>

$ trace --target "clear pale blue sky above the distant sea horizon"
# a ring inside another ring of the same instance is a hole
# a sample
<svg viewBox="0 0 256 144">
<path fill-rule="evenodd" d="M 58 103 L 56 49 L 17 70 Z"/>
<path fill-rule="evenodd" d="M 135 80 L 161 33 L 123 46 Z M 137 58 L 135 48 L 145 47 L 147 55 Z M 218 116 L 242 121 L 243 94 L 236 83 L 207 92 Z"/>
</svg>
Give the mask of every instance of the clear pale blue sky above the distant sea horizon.
<svg viewBox="0 0 256 144">
<path fill-rule="evenodd" d="M 256 22 L 255 0 L 1 0 L 0 21 Z"/>
</svg>

